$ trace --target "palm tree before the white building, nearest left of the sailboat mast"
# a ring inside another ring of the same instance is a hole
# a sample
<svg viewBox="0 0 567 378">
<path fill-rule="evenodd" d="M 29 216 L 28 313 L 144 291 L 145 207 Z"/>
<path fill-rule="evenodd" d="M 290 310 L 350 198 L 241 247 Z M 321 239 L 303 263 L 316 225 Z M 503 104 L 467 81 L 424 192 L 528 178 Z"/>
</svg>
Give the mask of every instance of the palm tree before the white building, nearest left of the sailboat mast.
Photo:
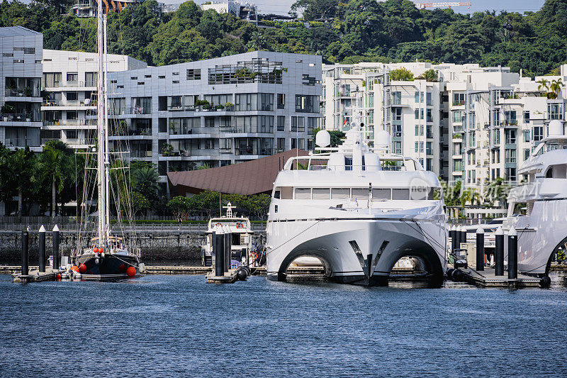
<svg viewBox="0 0 567 378">
<path fill-rule="evenodd" d="M 40 155 L 40 172 L 44 179 L 51 182 L 51 209 L 50 216 L 55 217 L 57 213 L 56 195 L 64 188 L 64 153 L 57 148 L 53 141 L 47 142 Z"/>
</svg>

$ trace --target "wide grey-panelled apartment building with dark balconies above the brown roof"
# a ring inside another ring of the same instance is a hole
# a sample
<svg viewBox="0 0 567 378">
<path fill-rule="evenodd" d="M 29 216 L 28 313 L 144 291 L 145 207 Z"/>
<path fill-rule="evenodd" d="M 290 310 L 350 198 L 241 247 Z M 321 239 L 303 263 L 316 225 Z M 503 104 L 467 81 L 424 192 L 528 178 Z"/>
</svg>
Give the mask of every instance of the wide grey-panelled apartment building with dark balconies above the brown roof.
<svg viewBox="0 0 567 378">
<path fill-rule="evenodd" d="M 321 57 L 255 51 L 109 74 L 111 141 L 168 171 L 312 147 Z"/>
</svg>

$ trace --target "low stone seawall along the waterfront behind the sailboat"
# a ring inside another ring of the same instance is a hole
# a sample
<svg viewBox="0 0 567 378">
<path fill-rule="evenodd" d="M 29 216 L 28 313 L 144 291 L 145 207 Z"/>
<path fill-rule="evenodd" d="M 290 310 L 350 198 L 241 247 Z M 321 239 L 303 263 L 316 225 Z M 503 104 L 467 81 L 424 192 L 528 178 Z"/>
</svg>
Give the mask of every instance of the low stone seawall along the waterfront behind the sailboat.
<svg viewBox="0 0 567 378">
<path fill-rule="evenodd" d="M 121 236 L 121 235 L 118 235 Z M 128 239 L 130 235 L 125 234 Z M 83 247 L 86 247 L 86 240 L 82 237 Z M 255 233 L 253 235 L 254 245 L 262 245 L 266 240 L 265 233 Z M 151 264 L 152 262 L 188 262 L 194 264 L 201 261 L 201 245 L 206 243 L 205 234 L 197 231 L 138 231 L 136 233 L 137 245 L 142 252 L 142 260 Z M 19 264 L 21 259 L 21 232 L 20 231 L 0 231 L 0 264 Z M 38 261 L 38 233 L 30 232 L 30 263 Z M 61 231 L 60 248 L 64 256 L 77 248 L 77 233 L 74 231 Z M 45 250 L 47 256 L 52 251 L 52 233 L 45 235 Z"/>
</svg>

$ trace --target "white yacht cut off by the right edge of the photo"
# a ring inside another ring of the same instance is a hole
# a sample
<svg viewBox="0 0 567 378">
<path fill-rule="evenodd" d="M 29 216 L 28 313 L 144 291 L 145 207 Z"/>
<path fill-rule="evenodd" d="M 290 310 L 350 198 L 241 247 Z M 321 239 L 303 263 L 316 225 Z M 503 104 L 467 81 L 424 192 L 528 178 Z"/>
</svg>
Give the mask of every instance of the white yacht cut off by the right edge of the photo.
<svg viewBox="0 0 567 378">
<path fill-rule="evenodd" d="M 567 244 L 567 136 L 561 121 L 551 121 L 548 136 L 518 169 L 527 183 L 510 191 L 503 228 L 518 233 L 518 270 L 549 274 L 552 257 Z M 526 215 L 512 216 L 517 207 Z"/>
</svg>

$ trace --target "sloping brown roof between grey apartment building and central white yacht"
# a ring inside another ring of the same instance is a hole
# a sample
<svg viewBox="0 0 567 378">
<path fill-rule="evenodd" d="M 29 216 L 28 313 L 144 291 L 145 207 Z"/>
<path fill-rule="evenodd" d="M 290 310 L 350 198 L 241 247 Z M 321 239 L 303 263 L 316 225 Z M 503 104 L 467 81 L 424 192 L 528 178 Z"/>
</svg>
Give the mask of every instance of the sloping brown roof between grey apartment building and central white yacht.
<svg viewBox="0 0 567 378">
<path fill-rule="evenodd" d="M 168 172 L 169 184 L 176 194 L 198 193 L 206 189 L 226 194 L 269 193 L 279 169 L 290 157 L 305 156 L 308 152 L 293 149 L 250 162 L 225 167 Z"/>
</svg>

